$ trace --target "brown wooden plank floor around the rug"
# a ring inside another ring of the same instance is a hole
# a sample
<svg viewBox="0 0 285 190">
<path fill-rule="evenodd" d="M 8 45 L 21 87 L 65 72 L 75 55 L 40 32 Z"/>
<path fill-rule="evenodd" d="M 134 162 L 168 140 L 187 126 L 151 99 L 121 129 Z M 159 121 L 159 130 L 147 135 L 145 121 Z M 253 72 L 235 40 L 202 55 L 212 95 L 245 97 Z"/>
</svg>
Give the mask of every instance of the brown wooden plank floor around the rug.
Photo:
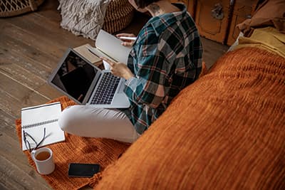
<svg viewBox="0 0 285 190">
<path fill-rule="evenodd" d="M 21 107 L 40 105 L 61 96 L 46 79 L 68 47 L 94 42 L 60 27 L 58 1 L 46 0 L 34 13 L 0 19 L 0 189 L 50 189 L 28 164 L 16 136 Z M 136 14 L 124 31 L 138 33 L 146 21 Z M 227 51 L 203 39 L 204 60 L 212 65 Z"/>
</svg>

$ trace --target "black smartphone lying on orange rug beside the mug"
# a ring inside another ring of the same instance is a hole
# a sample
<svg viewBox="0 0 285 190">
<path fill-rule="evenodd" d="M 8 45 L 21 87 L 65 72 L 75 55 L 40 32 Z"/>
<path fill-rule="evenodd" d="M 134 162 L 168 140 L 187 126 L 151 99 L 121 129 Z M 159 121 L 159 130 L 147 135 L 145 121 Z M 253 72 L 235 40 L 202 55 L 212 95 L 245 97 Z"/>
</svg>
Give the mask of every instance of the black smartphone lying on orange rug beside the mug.
<svg viewBox="0 0 285 190">
<path fill-rule="evenodd" d="M 99 164 L 70 163 L 68 166 L 68 176 L 91 177 L 99 171 Z"/>
</svg>

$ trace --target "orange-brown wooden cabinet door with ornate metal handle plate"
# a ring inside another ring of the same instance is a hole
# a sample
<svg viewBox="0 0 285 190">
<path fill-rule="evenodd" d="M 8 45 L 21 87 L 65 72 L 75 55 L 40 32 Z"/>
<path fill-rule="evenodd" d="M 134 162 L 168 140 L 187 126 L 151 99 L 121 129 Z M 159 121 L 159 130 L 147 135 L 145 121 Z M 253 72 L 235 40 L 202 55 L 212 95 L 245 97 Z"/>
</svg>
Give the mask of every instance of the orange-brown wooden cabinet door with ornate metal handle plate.
<svg viewBox="0 0 285 190">
<path fill-rule="evenodd" d="M 224 43 L 227 36 L 229 0 L 197 0 L 195 22 L 200 36 Z"/>
</svg>

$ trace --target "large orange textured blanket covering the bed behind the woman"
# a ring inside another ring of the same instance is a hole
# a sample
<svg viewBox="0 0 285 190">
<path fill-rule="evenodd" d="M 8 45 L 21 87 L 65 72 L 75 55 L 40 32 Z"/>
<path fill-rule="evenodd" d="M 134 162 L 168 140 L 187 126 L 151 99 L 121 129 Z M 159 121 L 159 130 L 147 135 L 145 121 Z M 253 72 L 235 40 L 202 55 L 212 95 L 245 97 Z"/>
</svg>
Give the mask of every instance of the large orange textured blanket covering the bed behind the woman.
<svg viewBox="0 0 285 190">
<path fill-rule="evenodd" d="M 222 56 L 95 189 L 284 189 L 284 68 L 258 48 Z"/>
</svg>

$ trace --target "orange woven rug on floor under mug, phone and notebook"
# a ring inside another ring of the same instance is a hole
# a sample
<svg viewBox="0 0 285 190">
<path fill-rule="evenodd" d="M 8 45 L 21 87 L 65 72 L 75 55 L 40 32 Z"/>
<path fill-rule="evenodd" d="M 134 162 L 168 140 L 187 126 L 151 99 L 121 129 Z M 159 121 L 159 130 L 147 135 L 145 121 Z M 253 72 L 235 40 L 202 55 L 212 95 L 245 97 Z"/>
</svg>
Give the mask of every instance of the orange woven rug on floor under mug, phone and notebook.
<svg viewBox="0 0 285 190">
<path fill-rule="evenodd" d="M 65 109 L 69 105 L 75 105 L 73 100 L 68 97 L 58 97 L 51 102 L 61 102 L 61 109 Z M 49 103 L 49 102 L 48 102 Z M 21 146 L 21 120 L 16 120 L 16 132 L 19 137 Z M 52 174 L 44 176 L 48 184 L 53 189 L 79 189 L 89 185 L 94 187 L 100 180 L 100 173 L 95 174 L 92 178 L 68 177 L 68 163 L 95 163 L 100 164 L 101 171 L 113 163 L 120 154 L 125 152 L 130 144 L 118 142 L 112 139 L 95 139 L 89 137 L 78 137 L 66 133 L 66 141 L 51 144 L 49 147 L 53 150 L 53 160 L 56 164 L 56 170 Z M 30 152 L 25 151 L 28 162 L 36 169 L 36 165 L 31 159 Z"/>
</svg>

